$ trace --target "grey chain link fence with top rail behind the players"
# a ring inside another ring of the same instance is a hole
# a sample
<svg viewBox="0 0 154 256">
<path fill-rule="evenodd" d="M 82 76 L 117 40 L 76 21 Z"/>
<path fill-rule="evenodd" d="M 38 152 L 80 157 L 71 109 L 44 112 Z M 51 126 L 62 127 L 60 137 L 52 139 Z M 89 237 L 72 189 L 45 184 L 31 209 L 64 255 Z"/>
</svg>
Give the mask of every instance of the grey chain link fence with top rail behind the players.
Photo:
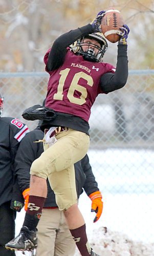
<svg viewBox="0 0 154 256">
<path fill-rule="evenodd" d="M 1 73 L 2 116 L 33 130 L 21 113 L 46 98 L 48 74 Z M 126 86 L 99 95 L 90 118 L 90 163 L 104 198 L 102 225 L 153 241 L 154 70 L 129 71 Z"/>
</svg>

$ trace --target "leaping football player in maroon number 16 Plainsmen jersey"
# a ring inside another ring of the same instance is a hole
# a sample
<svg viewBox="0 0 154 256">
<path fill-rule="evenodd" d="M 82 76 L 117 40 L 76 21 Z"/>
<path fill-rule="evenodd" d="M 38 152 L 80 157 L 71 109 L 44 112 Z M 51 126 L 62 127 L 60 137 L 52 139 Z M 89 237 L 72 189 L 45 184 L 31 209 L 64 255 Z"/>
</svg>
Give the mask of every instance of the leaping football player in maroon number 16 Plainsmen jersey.
<svg viewBox="0 0 154 256">
<path fill-rule="evenodd" d="M 126 25 L 121 28 L 115 69 L 102 62 L 107 43 L 103 35 L 97 33 L 101 32 L 104 13 L 99 12 L 91 24 L 59 36 L 44 57 L 50 75 L 46 107 L 53 109 L 56 115 L 44 120 L 41 129 L 49 130 L 45 130 L 45 143 L 51 146 L 31 166 L 30 197 L 24 225 L 15 240 L 6 245 L 8 248 L 37 246 L 36 226 L 47 196 L 48 178 L 81 255 L 98 255 L 87 242 L 85 222 L 77 203 L 73 164 L 82 159 L 89 148 L 88 121 L 97 95 L 123 88 L 127 81 L 129 28 Z M 39 110 L 41 108 L 36 111 Z"/>
</svg>

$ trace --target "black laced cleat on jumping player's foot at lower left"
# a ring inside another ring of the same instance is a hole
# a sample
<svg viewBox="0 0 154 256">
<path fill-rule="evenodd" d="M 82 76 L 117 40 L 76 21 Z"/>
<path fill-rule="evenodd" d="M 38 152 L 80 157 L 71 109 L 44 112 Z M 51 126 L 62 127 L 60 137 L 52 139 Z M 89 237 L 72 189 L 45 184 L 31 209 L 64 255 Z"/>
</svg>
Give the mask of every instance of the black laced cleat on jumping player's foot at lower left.
<svg viewBox="0 0 154 256">
<path fill-rule="evenodd" d="M 28 227 L 23 226 L 16 238 L 13 238 L 5 245 L 10 250 L 33 250 L 37 247 L 37 237 L 35 231 L 30 231 Z"/>
</svg>

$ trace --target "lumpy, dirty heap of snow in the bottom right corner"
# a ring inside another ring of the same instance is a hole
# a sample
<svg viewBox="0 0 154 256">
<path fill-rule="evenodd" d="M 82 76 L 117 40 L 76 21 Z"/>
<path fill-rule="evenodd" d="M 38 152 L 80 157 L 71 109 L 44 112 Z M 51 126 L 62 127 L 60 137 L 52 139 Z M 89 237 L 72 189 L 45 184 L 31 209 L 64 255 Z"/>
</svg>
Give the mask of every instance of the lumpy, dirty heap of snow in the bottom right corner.
<svg viewBox="0 0 154 256">
<path fill-rule="evenodd" d="M 90 235 L 94 251 L 101 256 L 153 256 L 154 243 L 133 241 L 121 232 L 100 227 Z M 95 242 L 94 242 L 95 241 Z M 76 250 L 75 256 L 80 253 Z"/>
</svg>

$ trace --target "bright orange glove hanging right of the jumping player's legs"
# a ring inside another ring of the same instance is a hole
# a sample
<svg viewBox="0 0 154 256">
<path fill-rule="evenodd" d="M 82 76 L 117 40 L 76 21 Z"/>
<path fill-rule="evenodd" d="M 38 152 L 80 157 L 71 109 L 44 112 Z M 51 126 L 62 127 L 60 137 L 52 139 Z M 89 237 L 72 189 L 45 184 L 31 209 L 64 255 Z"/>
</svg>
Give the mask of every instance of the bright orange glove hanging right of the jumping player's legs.
<svg viewBox="0 0 154 256">
<path fill-rule="evenodd" d="M 90 199 L 92 200 L 92 209 L 91 211 L 96 212 L 96 217 L 94 219 L 94 222 L 98 221 L 101 217 L 102 210 L 103 210 L 103 201 L 102 201 L 102 195 L 100 191 L 96 191 L 89 195 Z"/>
</svg>

